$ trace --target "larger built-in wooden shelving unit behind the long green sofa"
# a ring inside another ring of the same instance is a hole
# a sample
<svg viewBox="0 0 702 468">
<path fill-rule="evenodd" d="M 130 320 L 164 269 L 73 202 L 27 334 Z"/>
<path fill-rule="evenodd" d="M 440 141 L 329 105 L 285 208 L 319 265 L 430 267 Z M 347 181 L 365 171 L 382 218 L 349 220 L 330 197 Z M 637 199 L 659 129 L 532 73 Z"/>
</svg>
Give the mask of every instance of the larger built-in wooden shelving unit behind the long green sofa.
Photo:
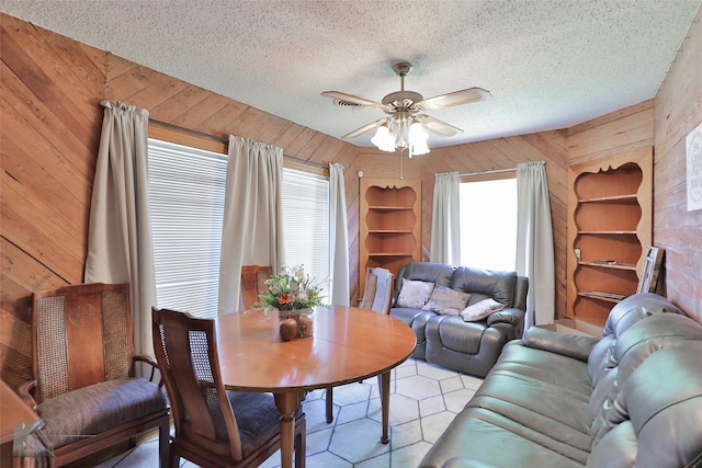
<svg viewBox="0 0 702 468">
<path fill-rule="evenodd" d="M 567 317 L 603 326 L 652 242 L 653 149 L 573 165 L 568 189 Z"/>
</svg>

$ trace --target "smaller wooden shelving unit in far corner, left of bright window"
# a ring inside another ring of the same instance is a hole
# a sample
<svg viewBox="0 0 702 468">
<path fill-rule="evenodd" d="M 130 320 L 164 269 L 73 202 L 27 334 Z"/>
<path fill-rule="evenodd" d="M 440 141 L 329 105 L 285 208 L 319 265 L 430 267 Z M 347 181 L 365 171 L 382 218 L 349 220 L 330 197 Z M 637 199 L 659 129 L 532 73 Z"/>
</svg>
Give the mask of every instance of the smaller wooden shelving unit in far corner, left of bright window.
<svg viewBox="0 0 702 468">
<path fill-rule="evenodd" d="M 382 266 L 394 275 L 421 259 L 421 181 L 361 179 L 360 294 L 365 269 Z"/>
</svg>

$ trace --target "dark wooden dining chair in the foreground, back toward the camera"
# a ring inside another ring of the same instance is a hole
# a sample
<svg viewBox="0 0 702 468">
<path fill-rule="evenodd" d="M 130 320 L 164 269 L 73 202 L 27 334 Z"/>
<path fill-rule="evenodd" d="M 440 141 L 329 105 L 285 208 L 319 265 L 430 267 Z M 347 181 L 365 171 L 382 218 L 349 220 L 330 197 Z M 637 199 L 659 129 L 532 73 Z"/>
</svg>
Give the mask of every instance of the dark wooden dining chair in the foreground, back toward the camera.
<svg viewBox="0 0 702 468">
<path fill-rule="evenodd" d="M 169 464 L 254 467 L 280 448 L 273 396 L 228 391 L 222 381 L 215 323 L 186 312 L 152 309 L 156 358 L 166 380 L 176 435 Z M 295 466 L 305 466 L 305 414 L 295 420 Z"/>
</svg>

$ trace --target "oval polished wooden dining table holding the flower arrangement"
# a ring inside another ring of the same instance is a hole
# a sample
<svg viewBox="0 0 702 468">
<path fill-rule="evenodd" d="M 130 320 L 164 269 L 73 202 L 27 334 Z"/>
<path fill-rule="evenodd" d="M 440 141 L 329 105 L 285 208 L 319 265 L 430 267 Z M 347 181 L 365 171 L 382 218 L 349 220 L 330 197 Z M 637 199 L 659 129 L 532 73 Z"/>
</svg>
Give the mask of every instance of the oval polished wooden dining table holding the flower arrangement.
<svg viewBox="0 0 702 468">
<path fill-rule="evenodd" d="M 381 441 L 389 441 L 390 369 L 410 356 L 417 342 L 403 321 L 355 307 L 317 307 L 310 338 L 284 342 L 278 313 L 258 310 L 219 316 L 215 328 L 225 387 L 275 397 L 283 468 L 293 464 L 294 413 L 308 390 L 380 376 Z"/>
</svg>

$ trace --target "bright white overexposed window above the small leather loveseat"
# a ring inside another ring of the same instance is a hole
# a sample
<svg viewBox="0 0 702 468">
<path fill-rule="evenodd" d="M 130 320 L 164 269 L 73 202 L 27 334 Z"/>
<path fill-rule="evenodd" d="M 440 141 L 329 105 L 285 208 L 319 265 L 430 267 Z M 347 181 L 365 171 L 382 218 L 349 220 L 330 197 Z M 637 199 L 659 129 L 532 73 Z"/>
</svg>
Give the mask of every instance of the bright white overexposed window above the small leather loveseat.
<svg viewBox="0 0 702 468">
<path fill-rule="evenodd" d="M 514 271 L 517 179 L 461 183 L 461 264 Z"/>
</svg>

